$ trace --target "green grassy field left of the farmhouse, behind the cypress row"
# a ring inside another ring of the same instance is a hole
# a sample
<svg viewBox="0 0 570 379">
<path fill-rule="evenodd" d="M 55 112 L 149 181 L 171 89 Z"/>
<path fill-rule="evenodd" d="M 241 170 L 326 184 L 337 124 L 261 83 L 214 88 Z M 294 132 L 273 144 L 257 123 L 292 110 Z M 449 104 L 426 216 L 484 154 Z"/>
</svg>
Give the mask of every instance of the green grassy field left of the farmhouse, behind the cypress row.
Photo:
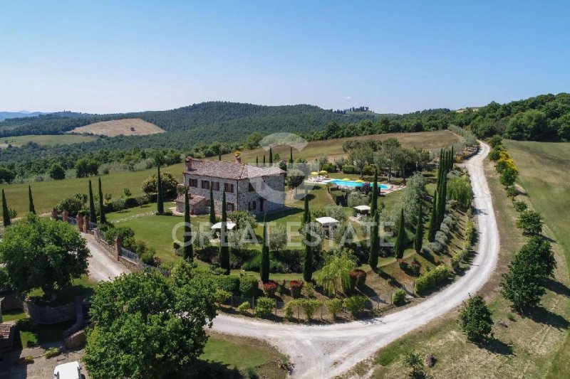
<svg viewBox="0 0 570 379">
<path fill-rule="evenodd" d="M 161 169 L 161 172 L 170 172 L 182 178 L 183 165 L 177 164 Z M 142 181 L 148 176 L 155 174 L 156 169 L 144 171 L 121 171 L 101 176 L 103 181 L 103 192 L 115 196 L 123 195 L 124 188 L 130 188 L 133 194 L 142 192 L 140 189 Z M 95 183 L 97 178 L 91 178 Z M 10 208 L 18 211 L 18 215 L 24 215 L 28 211 L 28 184 L 2 184 L 1 189 L 6 191 L 6 201 Z M 51 208 L 61 201 L 61 199 L 73 195 L 73 193 L 88 192 L 88 178 L 72 178 L 63 181 L 43 181 L 31 183 L 33 191 L 33 203 L 36 212 L 50 212 Z"/>
</svg>

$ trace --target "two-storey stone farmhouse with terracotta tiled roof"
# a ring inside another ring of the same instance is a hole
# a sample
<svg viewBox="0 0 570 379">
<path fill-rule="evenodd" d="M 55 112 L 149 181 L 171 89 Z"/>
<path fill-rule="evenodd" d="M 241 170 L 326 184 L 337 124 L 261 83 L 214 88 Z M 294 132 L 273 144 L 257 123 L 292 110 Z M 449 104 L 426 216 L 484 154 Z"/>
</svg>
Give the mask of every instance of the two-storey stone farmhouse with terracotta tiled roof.
<svg viewBox="0 0 570 379">
<path fill-rule="evenodd" d="M 194 159 L 185 160 L 184 185 L 190 196 L 190 213 L 209 212 L 209 190 L 212 188 L 216 214 L 222 213 L 222 194 L 226 193 L 227 212 L 247 210 L 254 215 L 271 213 L 285 207 L 285 171 L 276 166 Z M 184 194 L 176 199 L 176 210 L 184 212 Z"/>
</svg>

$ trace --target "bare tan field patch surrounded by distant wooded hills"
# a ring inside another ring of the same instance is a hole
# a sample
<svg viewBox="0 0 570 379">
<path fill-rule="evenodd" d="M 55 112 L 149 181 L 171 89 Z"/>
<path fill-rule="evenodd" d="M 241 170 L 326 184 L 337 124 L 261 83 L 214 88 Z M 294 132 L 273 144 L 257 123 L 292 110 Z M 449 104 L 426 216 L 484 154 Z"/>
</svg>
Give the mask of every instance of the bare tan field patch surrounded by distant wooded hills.
<svg viewBox="0 0 570 379">
<path fill-rule="evenodd" d="M 70 133 L 91 133 L 105 135 L 108 137 L 142 136 L 145 134 L 164 133 L 165 131 L 155 124 L 146 122 L 143 119 L 113 119 L 111 121 L 95 122 L 84 127 L 77 127 Z"/>
</svg>

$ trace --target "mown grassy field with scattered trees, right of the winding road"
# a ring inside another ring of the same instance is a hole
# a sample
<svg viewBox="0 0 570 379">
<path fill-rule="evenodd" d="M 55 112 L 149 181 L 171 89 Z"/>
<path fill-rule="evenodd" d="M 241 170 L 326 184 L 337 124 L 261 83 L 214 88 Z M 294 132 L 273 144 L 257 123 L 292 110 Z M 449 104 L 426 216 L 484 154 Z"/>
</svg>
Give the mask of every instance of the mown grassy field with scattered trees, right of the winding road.
<svg viewBox="0 0 570 379">
<path fill-rule="evenodd" d="M 432 321 L 378 351 L 373 364 L 362 363 L 355 373 L 373 370 L 375 378 L 405 378 L 403 356 L 411 350 L 432 353 L 437 358 L 426 370 L 435 378 L 567 378 L 569 370 L 568 329 L 570 320 L 568 217 L 570 205 L 566 183 L 570 144 L 505 142 L 520 169 L 519 183 L 527 196 L 520 196 L 541 211 L 554 237 L 559 267 L 546 286 L 542 307 L 529 316 L 519 316 L 499 294 L 500 275 L 507 270 L 514 252 L 526 242 L 516 228 L 517 213 L 498 183 L 492 164 L 487 164 L 489 186 L 494 197 L 501 251 L 496 272 L 482 289 L 495 322 L 494 339 L 476 345 L 467 342 L 457 324 L 457 311 Z M 554 212 L 553 210 L 556 211 Z M 552 225 L 552 228 L 550 228 Z M 566 233 L 564 233 L 566 230 Z M 561 233 L 561 234 L 560 234 Z M 566 249 L 566 251 L 564 251 Z"/>
</svg>

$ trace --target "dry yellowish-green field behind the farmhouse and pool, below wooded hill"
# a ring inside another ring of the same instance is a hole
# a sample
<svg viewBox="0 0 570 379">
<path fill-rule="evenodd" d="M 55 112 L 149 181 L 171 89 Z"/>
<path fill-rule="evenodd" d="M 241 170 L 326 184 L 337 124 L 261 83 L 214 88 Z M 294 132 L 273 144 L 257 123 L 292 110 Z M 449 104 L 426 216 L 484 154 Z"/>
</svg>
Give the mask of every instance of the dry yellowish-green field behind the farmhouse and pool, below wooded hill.
<svg viewBox="0 0 570 379">
<path fill-rule="evenodd" d="M 341 139 L 325 139 L 323 141 L 309 142 L 301 151 L 293 149 L 293 158 L 304 158 L 307 160 L 316 159 L 318 156 L 326 155 L 329 160 L 333 160 L 339 156 L 345 156 L 343 151 L 343 143 L 349 139 L 379 139 L 384 140 L 388 138 L 397 138 L 405 147 L 423 147 L 426 150 L 441 149 L 442 147 L 451 146 L 460 142 L 460 137 L 457 137 L 447 130 L 440 130 L 437 132 L 418 132 L 418 133 L 390 133 L 390 134 L 375 134 L 372 136 L 351 137 Z M 289 159 L 289 146 L 275 146 L 273 154 L 279 154 L 281 159 Z M 255 157 L 259 156 L 259 162 L 262 161 L 263 155 L 269 159 L 269 152 L 264 149 L 244 150 L 242 151 L 243 162 L 254 162 Z M 224 161 L 234 159 L 234 154 L 222 155 Z"/>
</svg>

